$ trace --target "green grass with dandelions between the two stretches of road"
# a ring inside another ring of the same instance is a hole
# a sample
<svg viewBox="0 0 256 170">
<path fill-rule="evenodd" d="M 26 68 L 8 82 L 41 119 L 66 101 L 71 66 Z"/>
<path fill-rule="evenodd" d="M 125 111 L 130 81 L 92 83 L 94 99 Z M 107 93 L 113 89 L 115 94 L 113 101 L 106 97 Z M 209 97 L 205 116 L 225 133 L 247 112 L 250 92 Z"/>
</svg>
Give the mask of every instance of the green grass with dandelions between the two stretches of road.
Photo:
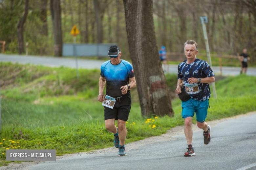
<svg viewBox="0 0 256 170">
<path fill-rule="evenodd" d="M 57 149 L 57 155 L 62 155 L 113 146 L 113 134 L 104 127 L 103 107 L 96 99 L 98 70 L 80 69 L 79 79 L 75 69 L 63 67 L 0 63 L 0 70 L 1 81 L 7 82 L 1 91 L 0 140 L 5 139 L 0 144 L 1 159 L 5 159 L 2 153 L 6 147 Z M 166 81 L 170 90 L 175 91 L 177 76 L 166 75 Z M 206 121 L 256 110 L 256 77 L 227 77 L 216 82 L 216 89 L 218 98 L 210 98 Z M 137 91 L 132 93 L 126 143 L 183 125 L 179 99 L 172 101 L 174 117 L 146 118 L 141 116 Z M 148 118 L 152 120 L 146 123 Z M 153 125 L 156 127 L 152 128 Z"/>
</svg>

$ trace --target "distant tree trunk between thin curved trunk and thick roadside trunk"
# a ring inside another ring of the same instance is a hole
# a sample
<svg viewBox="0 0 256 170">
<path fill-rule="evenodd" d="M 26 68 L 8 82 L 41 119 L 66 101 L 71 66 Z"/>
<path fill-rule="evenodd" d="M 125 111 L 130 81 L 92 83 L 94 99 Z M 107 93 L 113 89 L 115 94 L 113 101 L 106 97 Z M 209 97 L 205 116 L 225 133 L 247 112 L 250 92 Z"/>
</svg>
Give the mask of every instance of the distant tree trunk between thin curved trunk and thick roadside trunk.
<svg viewBox="0 0 256 170">
<path fill-rule="evenodd" d="M 47 5 L 48 0 L 41 0 L 41 11 L 40 11 L 40 20 L 42 24 L 42 35 L 48 36 L 48 25 L 47 25 Z"/>
</svg>

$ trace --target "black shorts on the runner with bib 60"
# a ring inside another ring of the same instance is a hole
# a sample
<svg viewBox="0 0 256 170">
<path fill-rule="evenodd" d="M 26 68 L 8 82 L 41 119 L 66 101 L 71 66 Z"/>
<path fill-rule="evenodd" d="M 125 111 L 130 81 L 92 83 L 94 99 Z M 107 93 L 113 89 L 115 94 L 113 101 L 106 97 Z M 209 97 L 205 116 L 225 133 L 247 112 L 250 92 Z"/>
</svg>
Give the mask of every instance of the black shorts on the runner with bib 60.
<svg viewBox="0 0 256 170">
<path fill-rule="evenodd" d="M 127 121 L 130 110 L 131 110 L 131 106 L 132 106 L 131 93 L 127 93 L 123 95 L 121 98 L 117 99 L 113 109 L 110 109 L 104 106 L 105 120 L 120 119 L 123 121 Z"/>
</svg>

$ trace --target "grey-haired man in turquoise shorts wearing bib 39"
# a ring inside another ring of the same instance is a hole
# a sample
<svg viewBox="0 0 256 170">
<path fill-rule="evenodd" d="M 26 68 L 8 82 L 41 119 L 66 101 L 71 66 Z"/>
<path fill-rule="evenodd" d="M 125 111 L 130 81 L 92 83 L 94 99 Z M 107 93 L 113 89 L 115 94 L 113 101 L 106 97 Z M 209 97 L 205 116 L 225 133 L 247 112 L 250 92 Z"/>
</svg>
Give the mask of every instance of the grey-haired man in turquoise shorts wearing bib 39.
<svg viewBox="0 0 256 170">
<path fill-rule="evenodd" d="M 176 93 L 189 94 L 190 99 L 182 101 L 182 118 L 185 120 L 184 132 L 188 144 L 188 150 L 184 156 L 194 156 L 195 151 L 192 147 L 192 117 L 196 112 L 197 126 L 203 129 L 204 144 L 211 141 L 211 127 L 205 122 L 211 96 L 210 86 L 208 83 L 215 81 L 214 73 L 206 61 L 197 59 L 197 43 L 188 40 L 184 44 L 184 53 L 186 60 L 178 66 L 178 83 Z"/>
</svg>

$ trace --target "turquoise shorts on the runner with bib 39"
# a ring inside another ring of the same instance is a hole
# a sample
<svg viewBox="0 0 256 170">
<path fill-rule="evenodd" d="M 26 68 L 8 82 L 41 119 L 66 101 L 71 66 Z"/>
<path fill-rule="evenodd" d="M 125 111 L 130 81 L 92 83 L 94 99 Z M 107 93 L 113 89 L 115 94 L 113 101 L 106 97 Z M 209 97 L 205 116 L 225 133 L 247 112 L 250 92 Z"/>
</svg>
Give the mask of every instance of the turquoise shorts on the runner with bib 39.
<svg viewBox="0 0 256 170">
<path fill-rule="evenodd" d="M 182 118 L 193 117 L 196 112 L 196 118 L 198 122 L 203 123 L 207 116 L 207 110 L 209 107 L 209 100 L 199 101 L 190 98 L 188 101 L 181 102 Z"/>
</svg>

